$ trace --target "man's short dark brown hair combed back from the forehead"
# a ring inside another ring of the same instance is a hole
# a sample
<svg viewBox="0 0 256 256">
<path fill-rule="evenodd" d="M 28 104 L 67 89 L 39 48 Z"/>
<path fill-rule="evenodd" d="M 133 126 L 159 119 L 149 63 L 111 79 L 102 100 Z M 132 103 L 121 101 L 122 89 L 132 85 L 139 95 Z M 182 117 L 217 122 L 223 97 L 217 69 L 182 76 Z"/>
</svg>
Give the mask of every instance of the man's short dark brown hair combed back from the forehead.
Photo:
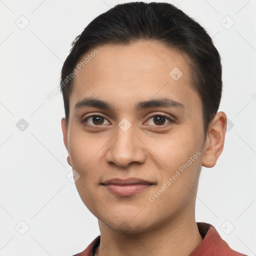
<svg viewBox="0 0 256 256">
<path fill-rule="evenodd" d="M 204 135 L 217 113 L 221 94 L 220 56 L 206 30 L 170 3 L 117 4 L 94 18 L 74 39 L 61 70 L 65 118 L 69 120 L 71 78 L 78 60 L 90 49 L 106 44 L 129 45 L 138 40 L 159 42 L 188 55 L 192 88 L 203 106 Z M 205 139 L 204 137 L 204 139 Z"/>
</svg>

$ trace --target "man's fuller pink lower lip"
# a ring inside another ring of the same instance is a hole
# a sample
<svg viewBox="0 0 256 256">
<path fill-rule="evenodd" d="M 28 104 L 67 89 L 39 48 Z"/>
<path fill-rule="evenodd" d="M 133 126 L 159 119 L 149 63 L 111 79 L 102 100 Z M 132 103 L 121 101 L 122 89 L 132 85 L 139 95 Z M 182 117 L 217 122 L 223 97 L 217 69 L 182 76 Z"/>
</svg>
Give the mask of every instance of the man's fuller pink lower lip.
<svg viewBox="0 0 256 256">
<path fill-rule="evenodd" d="M 150 184 L 131 184 L 131 185 L 106 184 L 104 186 L 113 194 L 132 195 L 146 189 L 151 185 Z"/>
</svg>

